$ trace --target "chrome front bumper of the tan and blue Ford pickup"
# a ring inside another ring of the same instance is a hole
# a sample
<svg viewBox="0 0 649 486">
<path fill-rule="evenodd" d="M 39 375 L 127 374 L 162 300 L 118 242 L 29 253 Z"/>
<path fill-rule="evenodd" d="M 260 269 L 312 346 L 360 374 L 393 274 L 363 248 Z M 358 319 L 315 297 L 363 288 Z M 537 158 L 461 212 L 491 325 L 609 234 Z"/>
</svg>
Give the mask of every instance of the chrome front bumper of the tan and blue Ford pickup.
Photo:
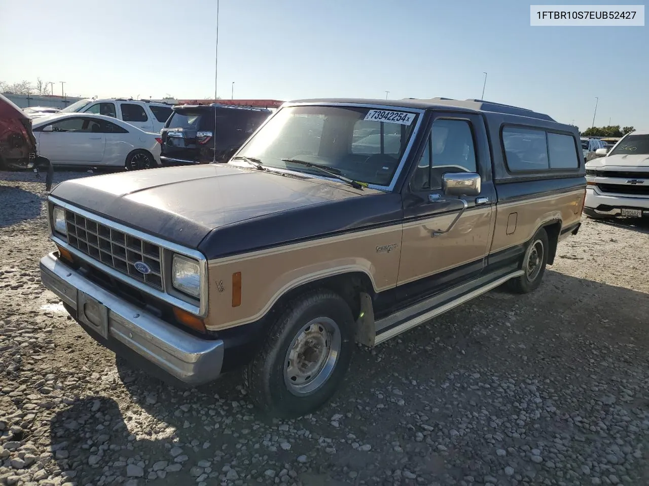
<svg viewBox="0 0 649 486">
<path fill-rule="evenodd" d="M 191 336 L 92 283 L 56 258 L 55 253 L 41 259 L 40 270 L 43 285 L 75 308 L 80 320 L 86 315 L 91 322 L 94 320 L 101 338 L 119 341 L 186 384 L 201 385 L 221 374 L 225 349 L 222 340 Z M 99 312 L 84 310 L 88 301 L 91 305 L 99 303 Z M 102 306 L 106 309 L 103 312 Z M 95 327 L 85 323 L 91 329 Z"/>
</svg>

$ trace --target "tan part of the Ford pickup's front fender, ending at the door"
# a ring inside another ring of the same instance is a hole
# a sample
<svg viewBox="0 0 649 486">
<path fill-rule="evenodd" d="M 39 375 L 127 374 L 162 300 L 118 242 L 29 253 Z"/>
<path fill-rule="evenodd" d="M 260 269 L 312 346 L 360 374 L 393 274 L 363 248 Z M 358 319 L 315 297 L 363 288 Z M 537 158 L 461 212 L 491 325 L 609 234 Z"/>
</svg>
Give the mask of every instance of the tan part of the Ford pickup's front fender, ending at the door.
<svg viewBox="0 0 649 486">
<path fill-rule="evenodd" d="M 359 231 L 312 242 L 256 251 L 208 263 L 208 329 L 254 322 L 292 288 L 338 275 L 361 272 L 374 292 L 397 284 L 402 226 Z M 241 305 L 232 307 L 232 275 L 241 273 Z"/>
</svg>

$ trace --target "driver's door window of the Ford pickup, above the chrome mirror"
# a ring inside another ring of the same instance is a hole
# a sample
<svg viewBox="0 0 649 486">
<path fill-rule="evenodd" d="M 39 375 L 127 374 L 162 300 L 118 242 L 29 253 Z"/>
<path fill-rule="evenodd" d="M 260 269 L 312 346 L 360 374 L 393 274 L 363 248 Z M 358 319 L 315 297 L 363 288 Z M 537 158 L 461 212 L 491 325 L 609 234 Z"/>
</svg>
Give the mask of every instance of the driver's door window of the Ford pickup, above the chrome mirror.
<svg viewBox="0 0 649 486">
<path fill-rule="evenodd" d="M 410 182 L 412 191 L 441 189 L 447 172 L 478 172 L 471 124 L 437 119 Z"/>
</svg>

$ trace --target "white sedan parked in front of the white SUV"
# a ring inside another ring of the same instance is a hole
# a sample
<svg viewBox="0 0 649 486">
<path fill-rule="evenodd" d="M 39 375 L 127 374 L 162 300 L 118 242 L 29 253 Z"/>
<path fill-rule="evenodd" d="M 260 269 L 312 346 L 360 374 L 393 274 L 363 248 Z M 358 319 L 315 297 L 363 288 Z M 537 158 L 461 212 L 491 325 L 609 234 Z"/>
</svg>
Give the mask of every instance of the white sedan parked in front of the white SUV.
<svg viewBox="0 0 649 486">
<path fill-rule="evenodd" d="M 158 167 L 158 133 L 140 130 L 127 122 L 88 113 L 57 113 L 34 120 L 38 154 L 52 165 Z"/>
</svg>

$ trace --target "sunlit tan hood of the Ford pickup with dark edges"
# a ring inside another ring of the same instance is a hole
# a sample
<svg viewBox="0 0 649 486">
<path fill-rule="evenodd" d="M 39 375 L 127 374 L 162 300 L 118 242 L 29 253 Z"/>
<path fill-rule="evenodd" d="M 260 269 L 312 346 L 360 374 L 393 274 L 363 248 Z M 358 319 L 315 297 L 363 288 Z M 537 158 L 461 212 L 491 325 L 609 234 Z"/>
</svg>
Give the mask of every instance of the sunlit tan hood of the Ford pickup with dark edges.
<svg viewBox="0 0 649 486">
<path fill-rule="evenodd" d="M 209 164 L 73 179 L 60 183 L 51 195 L 147 234 L 198 248 L 219 227 L 376 193 L 381 192 Z"/>
</svg>

